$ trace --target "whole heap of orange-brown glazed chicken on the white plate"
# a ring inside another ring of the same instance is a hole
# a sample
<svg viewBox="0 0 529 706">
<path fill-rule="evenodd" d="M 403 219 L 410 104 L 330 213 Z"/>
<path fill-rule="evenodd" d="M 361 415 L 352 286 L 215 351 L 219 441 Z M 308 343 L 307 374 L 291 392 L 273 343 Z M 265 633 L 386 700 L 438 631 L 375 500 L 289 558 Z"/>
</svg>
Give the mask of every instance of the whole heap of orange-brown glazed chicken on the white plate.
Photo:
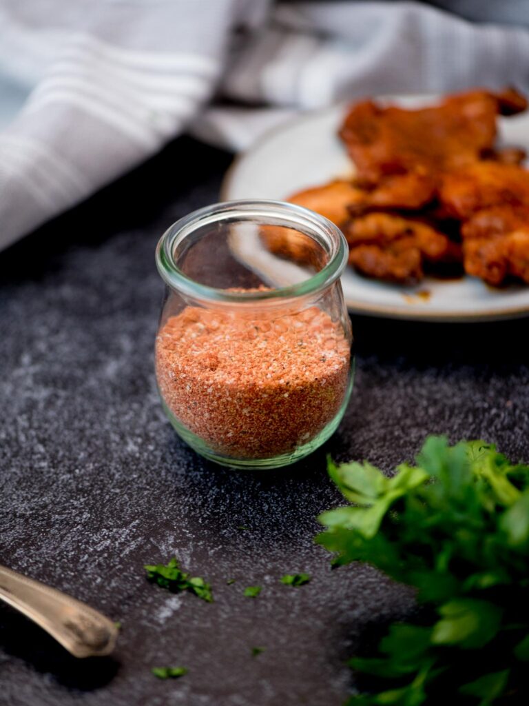
<svg viewBox="0 0 529 706">
<path fill-rule="evenodd" d="M 492 285 L 529 283 L 529 172 L 525 152 L 494 144 L 498 114 L 528 103 L 516 90 L 471 90 L 408 110 L 372 100 L 353 105 L 340 135 L 354 181 L 336 180 L 288 198 L 332 220 L 349 263 L 368 277 L 411 282 L 455 268 Z M 294 229 L 263 226 L 274 253 L 321 269 L 322 253 Z"/>
</svg>

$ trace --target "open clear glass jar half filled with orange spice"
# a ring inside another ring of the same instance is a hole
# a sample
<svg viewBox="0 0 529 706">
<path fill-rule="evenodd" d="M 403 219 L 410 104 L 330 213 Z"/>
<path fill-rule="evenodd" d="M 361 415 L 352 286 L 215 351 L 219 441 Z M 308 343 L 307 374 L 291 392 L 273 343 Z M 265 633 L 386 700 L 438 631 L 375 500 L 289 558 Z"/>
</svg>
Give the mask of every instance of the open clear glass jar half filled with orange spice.
<svg viewBox="0 0 529 706">
<path fill-rule="evenodd" d="M 217 203 L 164 233 L 157 383 L 198 453 L 279 467 L 335 431 L 353 384 L 347 253 L 332 222 L 279 201 Z"/>
</svg>

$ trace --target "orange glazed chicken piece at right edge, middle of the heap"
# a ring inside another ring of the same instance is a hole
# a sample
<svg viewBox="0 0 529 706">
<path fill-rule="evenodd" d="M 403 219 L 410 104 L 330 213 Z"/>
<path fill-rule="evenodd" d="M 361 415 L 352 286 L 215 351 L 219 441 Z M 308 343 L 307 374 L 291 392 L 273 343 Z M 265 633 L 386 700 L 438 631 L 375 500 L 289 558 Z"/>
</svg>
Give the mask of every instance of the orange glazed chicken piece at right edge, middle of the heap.
<svg viewBox="0 0 529 706">
<path fill-rule="evenodd" d="M 460 220 L 494 205 L 529 205 L 529 172 L 516 164 L 475 162 L 444 174 L 438 198 L 446 213 Z"/>
</svg>

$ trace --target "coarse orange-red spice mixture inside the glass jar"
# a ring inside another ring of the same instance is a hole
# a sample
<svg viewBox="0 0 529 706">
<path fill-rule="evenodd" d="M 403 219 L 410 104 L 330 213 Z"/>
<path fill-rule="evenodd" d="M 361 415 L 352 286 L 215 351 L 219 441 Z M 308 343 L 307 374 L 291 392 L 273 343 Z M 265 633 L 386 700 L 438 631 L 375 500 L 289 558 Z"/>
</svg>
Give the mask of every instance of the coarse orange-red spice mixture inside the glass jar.
<svg viewBox="0 0 529 706">
<path fill-rule="evenodd" d="M 216 453 L 267 458 L 314 438 L 339 411 L 350 350 L 312 306 L 273 320 L 188 306 L 156 342 L 164 401 Z"/>
</svg>

